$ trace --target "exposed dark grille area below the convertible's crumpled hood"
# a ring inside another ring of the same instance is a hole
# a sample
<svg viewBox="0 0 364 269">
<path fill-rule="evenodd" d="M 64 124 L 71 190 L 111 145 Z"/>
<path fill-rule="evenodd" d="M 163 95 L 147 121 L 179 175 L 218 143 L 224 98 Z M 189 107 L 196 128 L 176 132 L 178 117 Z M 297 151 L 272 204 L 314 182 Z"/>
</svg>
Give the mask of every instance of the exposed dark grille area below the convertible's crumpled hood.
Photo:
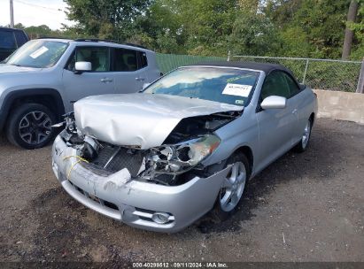
<svg viewBox="0 0 364 269">
<path fill-rule="evenodd" d="M 127 168 L 129 173 L 136 177 L 143 164 L 143 151 L 122 148 L 108 143 L 103 143 L 97 158 L 91 164 L 107 172 L 115 173 Z"/>
</svg>

